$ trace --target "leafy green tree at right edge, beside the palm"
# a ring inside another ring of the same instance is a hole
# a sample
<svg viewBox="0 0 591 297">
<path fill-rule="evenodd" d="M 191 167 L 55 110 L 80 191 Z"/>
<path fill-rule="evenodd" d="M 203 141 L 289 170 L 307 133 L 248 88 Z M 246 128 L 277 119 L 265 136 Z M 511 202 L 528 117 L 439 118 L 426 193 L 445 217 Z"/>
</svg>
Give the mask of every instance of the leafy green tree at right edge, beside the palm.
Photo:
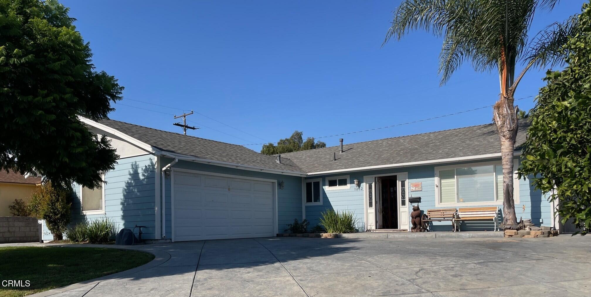
<svg viewBox="0 0 591 297">
<path fill-rule="evenodd" d="M 591 7 L 583 5 L 578 34 L 564 46 L 568 66 L 548 71 L 531 112 L 519 176 L 552 193 L 562 222 L 591 229 Z M 539 175 L 538 175 L 539 173 Z M 586 233 L 586 231 L 584 231 Z"/>
</svg>

